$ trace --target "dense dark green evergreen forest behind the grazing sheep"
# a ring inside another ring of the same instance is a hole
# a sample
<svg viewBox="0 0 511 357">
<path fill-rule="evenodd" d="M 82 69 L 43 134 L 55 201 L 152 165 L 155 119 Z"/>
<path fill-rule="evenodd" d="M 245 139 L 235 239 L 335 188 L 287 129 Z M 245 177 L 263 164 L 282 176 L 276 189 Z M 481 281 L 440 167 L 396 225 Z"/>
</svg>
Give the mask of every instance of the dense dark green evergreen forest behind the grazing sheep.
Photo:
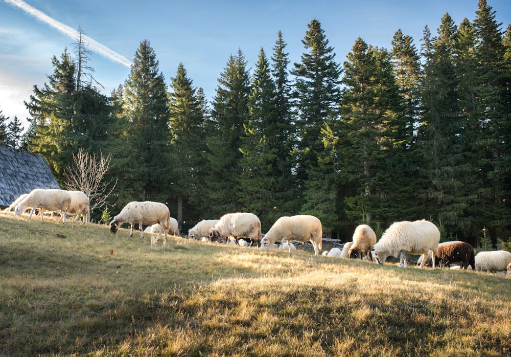
<svg viewBox="0 0 511 357">
<path fill-rule="evenodd" d="M 95 221 L 153 200 L 182 233 L 246 211 L 263 233 L 311 214 L 342 241 L 359 224 L 381 235 L 428 219 L 442 241 L 508 242 L 511 26 L 479 0 L 473 20 L 446 13 L 421 39 L 397 30 L 388 48 L 356 38 L 344 60 L 319 20 L 304 30 L 300 58 L 282 32 L 255 63 L 231 54 L 211 101 L 182 63 L 166 79 L 147 39 L 124 83 L 101 94 L 77 39 L 34 86 L 24 133 L 0 111 L 0 142 L 42 154 L 61 184 L 80 149 L 110 154 L 117 187 Z"/>
</svg>

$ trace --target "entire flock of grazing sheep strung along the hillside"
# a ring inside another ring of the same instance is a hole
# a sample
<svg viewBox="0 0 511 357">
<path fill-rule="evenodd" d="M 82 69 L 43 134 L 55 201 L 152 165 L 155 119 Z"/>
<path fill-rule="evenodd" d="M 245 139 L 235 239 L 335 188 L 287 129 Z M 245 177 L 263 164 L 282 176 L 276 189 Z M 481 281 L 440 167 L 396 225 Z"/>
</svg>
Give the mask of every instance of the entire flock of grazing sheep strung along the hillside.
<svg viewBox="0 0 511 357">
<path fill-rule="evenodd" d="M 19 216 L 28 208 L 32 208 L 29 219 L 36 209 L 50 212 L 60 211 L 60 219 L 66 222 L 67 214 L 75 214 L 76 221 L 83 216 L 83 221 L 89 216 L 89 199 L 80 191 L 34 189 L 28 194 L 21 195 L 13 202 L 8 210 Z M 115 233 L 123 223 L 129 223 L 133 235 L 135 223 L 140 229 L 141 238 L 145 232 L 158 233 L 152 235 L 151 246 L 156 244 L 161 233 L 164 234 L 164 244 L 168 233 L 179 235 L 178 222 L 170 216 L 169 208 L 158 202 L 130 202 L 110 222 L 110 231 Z M 263 236 L 261 221 L 253 213 L 228 213 L 220 219 L 202 220 L 188 231 L 188 238 L 218 242 L 234 242 L 239 245 L 252 246 L 254 243 L 267 250 L 280 243 L 280 250 L 286 246 L 291 252 L 295 249 L 292 241 L 311 242 L 314 254 L 319 255 L 322 243 L 321 221 L 311 215 L 295 215 L 278 218 L 268 232 Z M 250 241 L 250 243 L 248 242 Z M 470 266 L 476 271 L 507 271 L 511 274 L 511 252 L 491 251 L 479 252 L 474 255 L 473 247 L 466 242 L 453 241 L 440 243 L 438 228 L 427 220 L 401 221 L 392 224 L 377 241 L 376 234 L 368 225 L 360 225 L 355 229 L 353 241 L 344 247 L 332 248 L 322 253 L 326 256 L 343 258 L 360 258 L 376 260 L 383 264 L 389 257 L 399 258 L 399 266 L 408 266 L 406 254 L 420 255 L 417 264 L 421 267 L 450 266 L 459 262 L 463 269 Z"/>
</svg>

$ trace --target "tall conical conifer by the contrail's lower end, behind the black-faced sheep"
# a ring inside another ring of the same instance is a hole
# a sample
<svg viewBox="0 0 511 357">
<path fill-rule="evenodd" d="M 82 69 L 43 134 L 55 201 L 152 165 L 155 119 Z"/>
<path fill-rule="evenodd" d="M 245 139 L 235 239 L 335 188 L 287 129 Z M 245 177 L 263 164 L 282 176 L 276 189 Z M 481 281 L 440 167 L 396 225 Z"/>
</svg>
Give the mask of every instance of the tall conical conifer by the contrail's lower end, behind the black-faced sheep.
<svg viewBox="0 0 511 357">
<path fill-rule="evenodd" d="M 167 85 L 148 40 L 135 52 L 124 83 L 124 116 L 130 143 L 125 177 L 133 199 L 165 201 L 170 195 Z"/>
</svg>

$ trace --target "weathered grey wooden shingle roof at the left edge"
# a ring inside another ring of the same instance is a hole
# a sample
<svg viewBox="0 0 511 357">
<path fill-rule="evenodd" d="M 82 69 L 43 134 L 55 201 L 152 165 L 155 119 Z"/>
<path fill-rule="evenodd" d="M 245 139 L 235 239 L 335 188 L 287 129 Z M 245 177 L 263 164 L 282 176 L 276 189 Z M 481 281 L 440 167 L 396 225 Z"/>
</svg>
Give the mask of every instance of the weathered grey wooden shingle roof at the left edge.
<svg viewBox="0 0 511 357">
<path fill-rule="evenodd" d="M 35 188 L 60 188 L 42 155 L 0 145 L 0 206 Z"/>
</svg>

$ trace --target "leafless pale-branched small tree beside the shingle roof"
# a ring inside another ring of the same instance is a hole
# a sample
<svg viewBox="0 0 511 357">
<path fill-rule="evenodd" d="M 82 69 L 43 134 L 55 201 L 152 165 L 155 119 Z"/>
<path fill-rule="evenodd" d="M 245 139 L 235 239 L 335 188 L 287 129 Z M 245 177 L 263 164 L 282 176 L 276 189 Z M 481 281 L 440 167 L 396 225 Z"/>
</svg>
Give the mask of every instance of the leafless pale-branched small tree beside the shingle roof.
<svg viewBox="0 0 511 357">
<path fill-rule="evenodd" d="M 113 186 L 111 186 L 113 178 L 108 182 L 103 181 L 110 169 L 110 161 L 111 154 L 105 157 L 103 153 L 100 153 L 100 157 L 96 158 L 96 154 L 91 156 L 80 148 L 78 153 L 73 155 L 73 165 L 65 169 L 64 185 L 68 190 L 85 193 L 90 200 L 90 211 L 103 207 L 117 185 L 117 178 Z M 88 216 L 90 219 L 90 212 Z"/>
</svg>

